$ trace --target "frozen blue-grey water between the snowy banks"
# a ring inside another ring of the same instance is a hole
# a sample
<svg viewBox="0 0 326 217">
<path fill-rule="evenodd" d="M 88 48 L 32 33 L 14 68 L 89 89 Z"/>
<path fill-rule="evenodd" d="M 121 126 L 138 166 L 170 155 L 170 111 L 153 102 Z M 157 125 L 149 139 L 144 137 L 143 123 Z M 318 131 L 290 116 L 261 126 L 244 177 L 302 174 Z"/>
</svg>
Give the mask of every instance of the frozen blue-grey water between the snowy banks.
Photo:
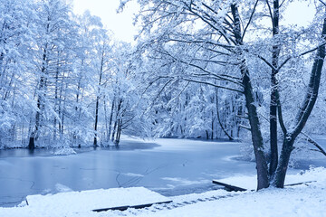
<svg viewBox="0 0 326 217">
<path fill-rule="evenodd" d="M 237 161 L 239 143 L 158 139 L 125 140 L 120 149 L 83 150 L 51 156 L 49 150 L 0 151 L 0 206 L 29 194 L 144 186 L 164 195 L 218 188 L 212 179 L 255 174 L 254 163 Z"/>
</svg>

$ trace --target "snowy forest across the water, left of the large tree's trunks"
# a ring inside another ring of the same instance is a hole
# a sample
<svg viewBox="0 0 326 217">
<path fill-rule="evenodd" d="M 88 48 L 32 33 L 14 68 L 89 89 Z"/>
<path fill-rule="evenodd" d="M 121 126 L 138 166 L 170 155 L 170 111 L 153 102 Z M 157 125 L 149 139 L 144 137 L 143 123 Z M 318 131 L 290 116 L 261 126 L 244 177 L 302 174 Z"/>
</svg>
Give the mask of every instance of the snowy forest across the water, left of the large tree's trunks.
<svg viewBox="0 0 326 217">
<path fill-rule="evenodd" d="M 240 137 L 241 91 L 206 85 L 212 76 L 184 80 L 182 73 L 197 73 L 187 60 L 114 41 L 99 17 L 73 14 L 64 1 L 1 7 L 1 147 L 107 146 L 121 133 Z M 193 49 L 183 52 L 199 53 Z M 223 70 L 216 63 L 205 67 Z"/>
</svg>

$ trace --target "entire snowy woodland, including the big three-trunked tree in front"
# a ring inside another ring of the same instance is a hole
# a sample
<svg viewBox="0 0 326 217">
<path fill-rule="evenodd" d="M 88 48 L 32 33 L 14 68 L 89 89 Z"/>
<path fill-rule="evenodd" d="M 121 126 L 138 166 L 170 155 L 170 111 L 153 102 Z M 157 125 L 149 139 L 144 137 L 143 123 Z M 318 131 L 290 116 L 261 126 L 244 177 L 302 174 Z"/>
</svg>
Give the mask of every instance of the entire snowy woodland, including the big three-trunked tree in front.
<svg viewBox="0 0 326 217">
<path fill-rule="evenodd" d="M 62 0 L 1 1 L 0 148 L 241 140 L 258 189 L 283 187 L 292 150 L 326 155 L 310 137 L 326 127 L 326 3 L 306 26 L 283 22 L 292 1 L 138 3 L 128 43 Z"/>
</svg>

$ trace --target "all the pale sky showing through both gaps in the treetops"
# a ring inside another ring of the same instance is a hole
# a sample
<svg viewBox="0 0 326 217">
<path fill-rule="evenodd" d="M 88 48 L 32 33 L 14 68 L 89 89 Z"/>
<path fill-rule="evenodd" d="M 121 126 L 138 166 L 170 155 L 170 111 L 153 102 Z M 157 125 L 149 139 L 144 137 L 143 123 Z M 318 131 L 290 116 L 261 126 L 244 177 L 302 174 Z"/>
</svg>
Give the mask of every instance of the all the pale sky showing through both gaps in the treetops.
<svg viewBox="0 0 326 217">
<path fill-rule="evenodd" d="M 304 26 L 312 22 L 313 6 L 309 7 L 310 1 L 296 2 L 283 14 L 286 24 Z M 102 23 L 110 29 L 115 37 L 125 42 L 132 42 L 137 29 L 133 26 L 133 14 L 139 12 L 139 5 L 132 1 L 121 14 L 117 14 L 120 0 L 73 0 L 74 12 L 82 14 L 90 10 L 92 15 L 101 17 Z"/>
</svg>

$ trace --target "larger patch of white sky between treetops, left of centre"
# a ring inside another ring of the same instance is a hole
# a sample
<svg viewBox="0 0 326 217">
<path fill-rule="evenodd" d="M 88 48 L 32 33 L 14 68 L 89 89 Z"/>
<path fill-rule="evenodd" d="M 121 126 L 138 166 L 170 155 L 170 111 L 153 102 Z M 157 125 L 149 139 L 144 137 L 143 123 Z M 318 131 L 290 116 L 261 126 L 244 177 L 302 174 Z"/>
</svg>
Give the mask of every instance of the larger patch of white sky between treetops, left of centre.
<svg viewBox="0 0 326 217">
<path fill-rule="evenodd" d="M 73 11 L 82 14 L 90 10 L 92 15 L 100 16 L 102 24 L 110 29 L 115 37 L 125 42 L 132 42 L 137 34 L 136 27 L 132 25 L 133 14 L 137 14 L 139 6 L 134 2 L 127 4 L 121 14 L 117 14 L 120 0 L 73 0 Z"/>
</svg>

